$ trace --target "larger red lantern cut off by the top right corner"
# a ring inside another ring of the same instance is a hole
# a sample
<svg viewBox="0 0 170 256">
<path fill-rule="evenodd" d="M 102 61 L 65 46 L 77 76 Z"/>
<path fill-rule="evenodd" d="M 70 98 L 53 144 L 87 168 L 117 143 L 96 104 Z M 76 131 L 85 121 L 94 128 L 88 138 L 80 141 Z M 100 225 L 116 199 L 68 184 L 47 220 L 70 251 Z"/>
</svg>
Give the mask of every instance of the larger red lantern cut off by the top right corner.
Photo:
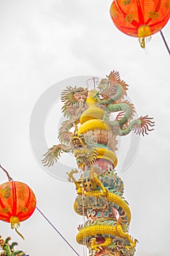
<svg viewBox="0 0 170 256">
<path fill-rule="evenodd" d="M 160 31 L 169 20 L 169 0 L 115 0 L 110 7 L 115 26 L 131 37 L 139 37 L 142 48 L 144 38 Z"/>
</svg>

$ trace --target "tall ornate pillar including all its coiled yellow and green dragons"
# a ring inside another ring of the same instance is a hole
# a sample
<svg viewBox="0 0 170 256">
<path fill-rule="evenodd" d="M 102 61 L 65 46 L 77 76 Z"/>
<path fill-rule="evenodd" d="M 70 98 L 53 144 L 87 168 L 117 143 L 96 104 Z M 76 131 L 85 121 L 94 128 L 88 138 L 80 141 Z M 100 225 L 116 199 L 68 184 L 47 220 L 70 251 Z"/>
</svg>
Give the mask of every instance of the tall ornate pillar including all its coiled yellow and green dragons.
<svg viewBox="0 0 170 256">
<path fill-rule="evenodd" d="M 137 243 L 128 234 L 131 210 L 123 197 L 123 181 L 115 172 L 117 136 L 131 131 L 148 134 L 154 121 L 148 116 L 134 119 L 134 105 L 124 99 L 127 89 L 113 71 L 101 80 L 98 91 L 64 90 L 62 110 L 68 119 L 59 131 L 61 144 L 49 148 L 42 160 L 44 165 L 53 165 L 61 152 L 72 152 L 77 159 L 80 170 L 67 174 L 77 189 L 74 211 L 86 217 L 76 239 L 88 247 L 90 256 L 133 256 Z M 112 113 L 117 113 L 115 120 Z M 74 174 L 79 172 L 77 180 Z"/>
</svg>

